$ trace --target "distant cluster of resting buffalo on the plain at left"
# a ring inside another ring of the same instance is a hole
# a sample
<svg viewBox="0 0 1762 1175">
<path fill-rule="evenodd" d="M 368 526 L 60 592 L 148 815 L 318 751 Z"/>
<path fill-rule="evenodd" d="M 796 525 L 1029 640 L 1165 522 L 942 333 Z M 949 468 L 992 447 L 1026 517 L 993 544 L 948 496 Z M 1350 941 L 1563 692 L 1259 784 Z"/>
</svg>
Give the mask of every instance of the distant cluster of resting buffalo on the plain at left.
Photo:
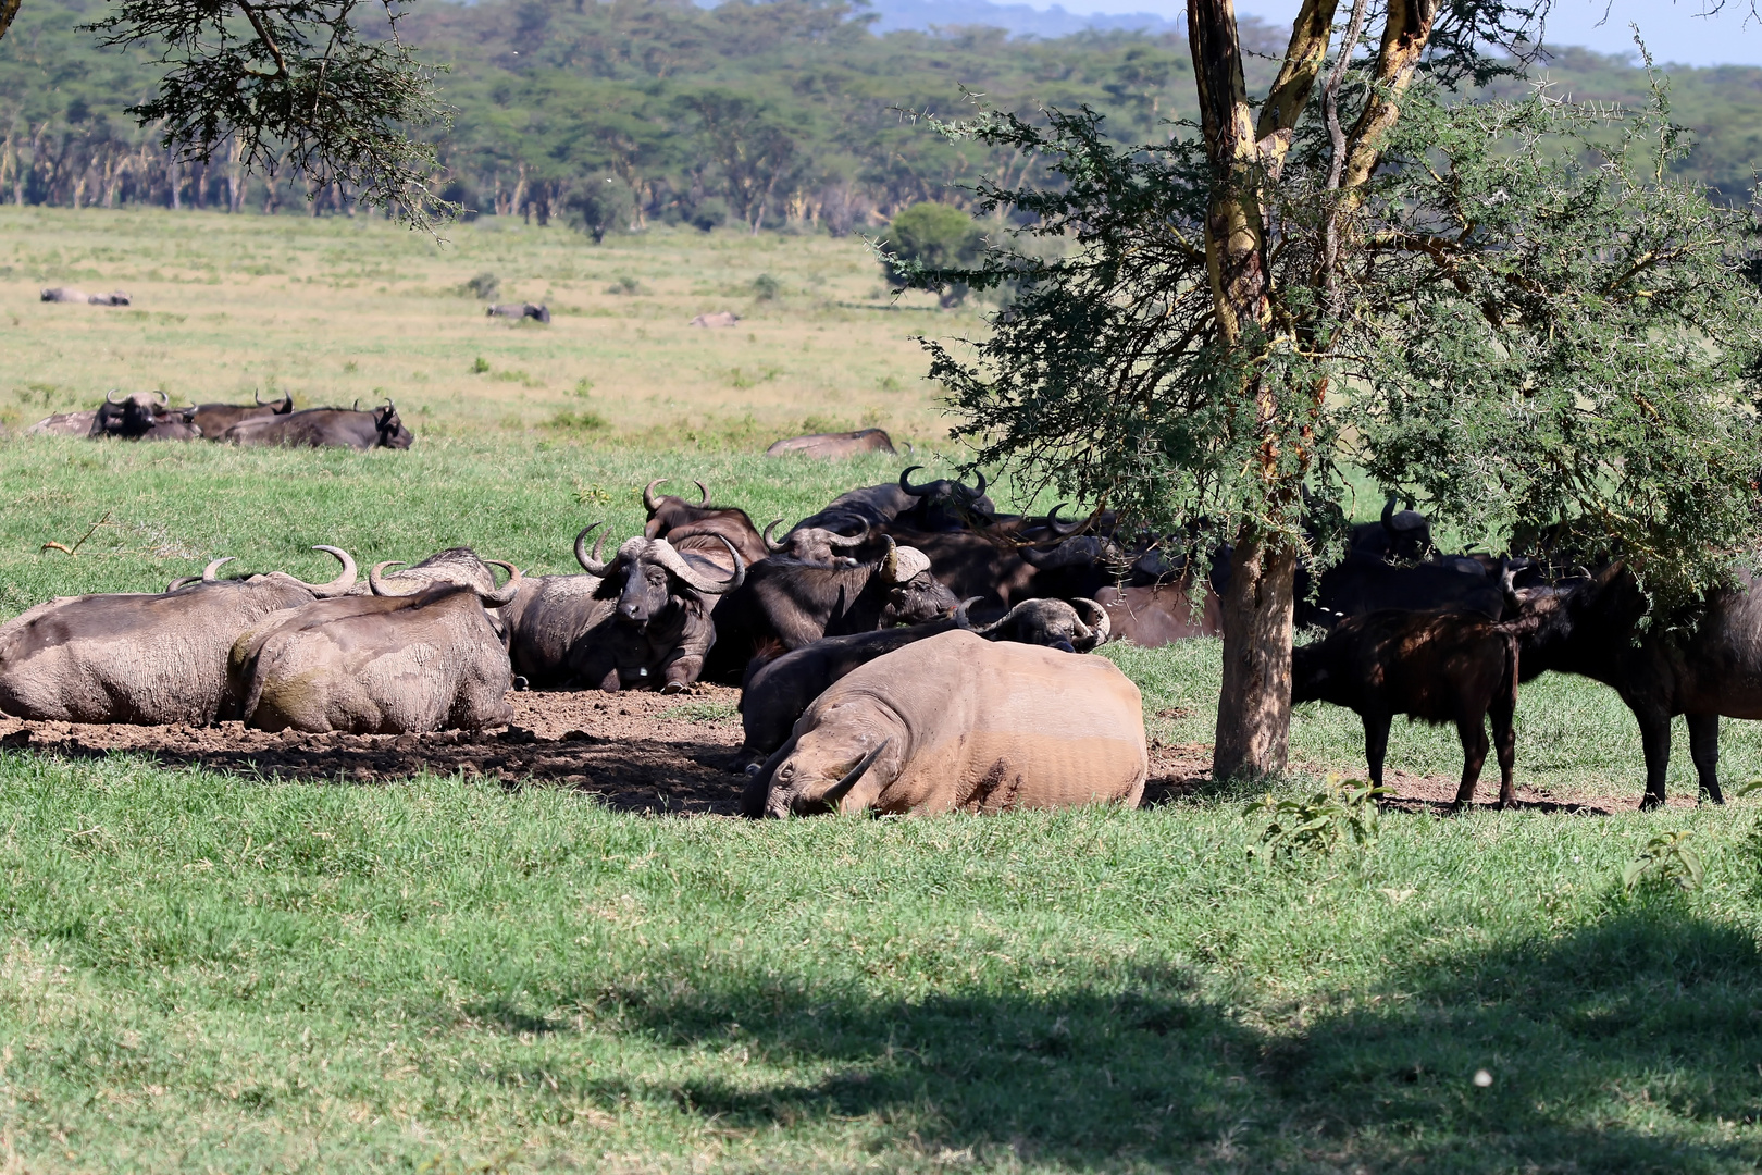
<svg viewBox="0 0 1762 1175">
<path fill-rule="evenodd" d="M 83 412 L 56 412 L 25 435 L 113 437 L 118 440 L 224 440 L 243 446 L 409 449 L 416 433 L 398 419 L 391 400 L 361 410 L 303 409 L 294 398 L 255 403 L 192 403 L 171 407 L 162 391 L 137 391 L 123 398 L 116 393 Z"/>
</svg>

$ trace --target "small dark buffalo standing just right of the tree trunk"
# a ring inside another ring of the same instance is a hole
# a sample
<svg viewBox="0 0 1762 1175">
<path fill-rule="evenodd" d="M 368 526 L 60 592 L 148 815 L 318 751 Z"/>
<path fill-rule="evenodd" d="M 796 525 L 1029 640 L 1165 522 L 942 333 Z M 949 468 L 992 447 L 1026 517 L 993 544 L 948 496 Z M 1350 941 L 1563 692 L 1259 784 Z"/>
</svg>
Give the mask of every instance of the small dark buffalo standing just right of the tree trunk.
<svg viewBox="0 0 1762 1175">
<path fill-rule="evenodd" d="M 1371 782 L 1383 782 L 1388 724 L 1397 713 L 1454 722 L 1462 740 L 1455 803 L 1475 798 L 1487 761 L 1487 715 L 1499 757 L 1499 805 L 1515 800 L 1517 625 L 1485 617 L 1381 610 L 1350 617 L 1325 639 L 1292 652 L 1292 703 L 1329 701 L 1364 719 Z"/>
</svg>

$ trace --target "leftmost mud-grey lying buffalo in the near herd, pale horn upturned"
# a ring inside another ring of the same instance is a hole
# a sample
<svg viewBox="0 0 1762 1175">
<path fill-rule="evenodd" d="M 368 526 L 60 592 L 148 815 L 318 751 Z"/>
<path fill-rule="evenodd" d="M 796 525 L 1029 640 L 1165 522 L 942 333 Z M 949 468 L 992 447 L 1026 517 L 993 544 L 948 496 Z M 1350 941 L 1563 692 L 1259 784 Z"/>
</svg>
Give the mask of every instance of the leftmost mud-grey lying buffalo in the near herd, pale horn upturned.
<svg viewBox="0 0 1762 1175">
<path fill-rule="evenodd" d="M 206 724 L 229 717 L 227 652 L 271 613 L 342 595 L 354 560 L 329 583 L 275 571 L 178 580 L 159 595 L 79 595 L 39 604 L 0 625 L 0 710 L 51 722 Z"/>
</svg>

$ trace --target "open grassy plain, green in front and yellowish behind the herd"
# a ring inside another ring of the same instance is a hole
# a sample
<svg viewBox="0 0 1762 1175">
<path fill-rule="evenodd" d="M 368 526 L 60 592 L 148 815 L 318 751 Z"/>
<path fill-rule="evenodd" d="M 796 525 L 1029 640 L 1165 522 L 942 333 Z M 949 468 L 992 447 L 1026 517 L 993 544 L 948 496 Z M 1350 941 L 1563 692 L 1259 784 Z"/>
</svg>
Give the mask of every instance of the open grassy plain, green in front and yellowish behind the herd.
<svg viewBox="0 0 1762 1175">
<path fill-rule="evenodd" d="M 899 474 L 759 456 L 796 432 L 960 456 L 914 338 L 978 310 L 890 301 L 856 241 L 449 236 L 0 210 L 0 617 L 220 555 L 328 574 L 314 543 L 566 571 L 587 521 L 640 527 L 650 477 L 763 523 Z M 483 273 L 553 321 L 485 317 Z M 687 326 L 714 310 L 742 321 Z M 109 388 L 391 396 L 418 442 L 18 435 Z M 1105 655 L 1203 763 L 1216 643 Z M 726 729 L 728 698 L 645 713 Z M 1762 773 L 1753 726 L 1723 750 L 1729 793 Z M 1300 708 L 1274 791 L 1360 754 L 1353 715 Z M 7 749 L 0 1171 L 1753 1171 L 1758 807 L 1695 807 L 1686 757 L 1674 805 L 1633 810 L 1632 717 L 1545 678 L 1519 810 L 1404 802 L 1267 867 L 1255 796 L 1191 779 L 1136 812 L 744 823 L 664 787 L 633 812 L 506 772 Z M 1454 787 L 1454 733 L 1397 728 L 1390 765 Z"/>
</svg>

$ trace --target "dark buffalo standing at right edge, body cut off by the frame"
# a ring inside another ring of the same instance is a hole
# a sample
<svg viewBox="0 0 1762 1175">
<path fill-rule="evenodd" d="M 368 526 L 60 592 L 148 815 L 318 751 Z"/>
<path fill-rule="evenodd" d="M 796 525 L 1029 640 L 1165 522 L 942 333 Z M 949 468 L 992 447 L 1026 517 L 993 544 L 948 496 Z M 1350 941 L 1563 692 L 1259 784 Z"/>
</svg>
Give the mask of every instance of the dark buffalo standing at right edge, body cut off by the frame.
<svg viewBox="0 0 1762 1175">
<path fill-rule="evenodd" d="M 1755 576 L 1711 592 L 1693 625 L 1640 629 L 1649 604 L 1623 564 L 1595 576 L 1519 592 L 1522 680 L 1540 673 L 1579 673 L 1609 685 L 1640 724 L 1646 794 L 1640 807 L 1665 802 L 1670 719 L 1688 717 L 1688 754 L 1700 791 L 1720 793 L 1720 715 L 1762 719 L 1762 592 Z"/>
</svg>

